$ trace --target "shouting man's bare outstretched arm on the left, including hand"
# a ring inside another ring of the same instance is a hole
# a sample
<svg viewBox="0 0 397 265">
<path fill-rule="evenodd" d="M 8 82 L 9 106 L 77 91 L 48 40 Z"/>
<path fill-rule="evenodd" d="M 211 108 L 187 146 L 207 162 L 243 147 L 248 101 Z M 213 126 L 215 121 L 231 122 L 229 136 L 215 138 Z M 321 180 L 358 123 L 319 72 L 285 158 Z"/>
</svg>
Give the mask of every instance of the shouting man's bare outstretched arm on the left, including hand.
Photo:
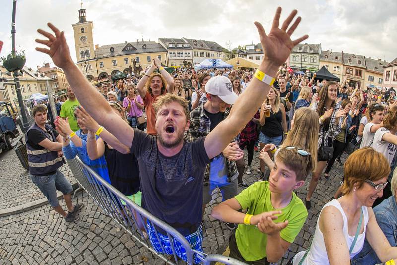
<svg viewBox="0 0 397 265">
<path fill-rule="evenodd" d="M 36 42 L 46 45 L 49 49 L 36 47 L 36 50 L 48 54 L 54 64 L 64 70 L 67 81 L 86 111 L 96 121 L 100 121 L 101 125 L 116 136 L 116 138 L 120 139 L 123 144 L 131 146 L 133 129 L 120 116 L 113 112 L 105 98 L 95 90 L 74 64 L 70 57 L 69 46 L 66 43 L 64 32 L 60 32 L 51 23 L 47 25 L 52 29 L 55 36 L 38 29 L 37 31 L 45 36 L 47 40 L 36 39 Z"/>
</svg>

